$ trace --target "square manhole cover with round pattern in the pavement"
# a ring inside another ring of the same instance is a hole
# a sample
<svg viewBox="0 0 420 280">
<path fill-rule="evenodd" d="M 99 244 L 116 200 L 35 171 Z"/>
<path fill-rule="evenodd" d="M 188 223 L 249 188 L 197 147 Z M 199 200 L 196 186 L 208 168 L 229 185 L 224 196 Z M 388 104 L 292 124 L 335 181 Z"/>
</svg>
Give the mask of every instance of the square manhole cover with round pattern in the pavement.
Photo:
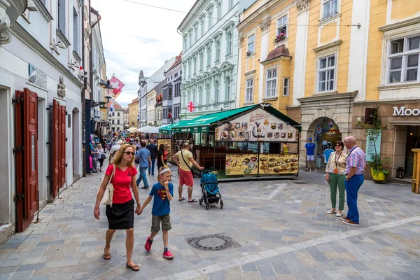
<svg viewBox="0 0 420 280">
<path fill-rule="evenodd" d="M 225 233 L 187 238 L 186 241 L 196 254 L 205 251 L 221 251 L 230 248 L 239 248 L 241 246 L 237 241 L 233 240 L 232 237 Z"/>
</svg>

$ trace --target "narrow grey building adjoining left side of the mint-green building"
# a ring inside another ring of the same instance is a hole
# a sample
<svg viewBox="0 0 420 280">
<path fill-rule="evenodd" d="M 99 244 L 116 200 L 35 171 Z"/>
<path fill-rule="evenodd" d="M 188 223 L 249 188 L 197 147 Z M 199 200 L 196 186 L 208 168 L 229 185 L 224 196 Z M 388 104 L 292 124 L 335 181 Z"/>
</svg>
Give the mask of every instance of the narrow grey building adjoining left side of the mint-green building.
<svg viewBox="0 0 420 280">
<path fill-rule="evenodd" d="M 181 113 L 181 84 L 182 84 L 182 52 L 175 57 L 175 62 L 165 72 L 167 85 L 163 87 L 164 110 L 163 125 L 176 123 Z"/>
</svg>

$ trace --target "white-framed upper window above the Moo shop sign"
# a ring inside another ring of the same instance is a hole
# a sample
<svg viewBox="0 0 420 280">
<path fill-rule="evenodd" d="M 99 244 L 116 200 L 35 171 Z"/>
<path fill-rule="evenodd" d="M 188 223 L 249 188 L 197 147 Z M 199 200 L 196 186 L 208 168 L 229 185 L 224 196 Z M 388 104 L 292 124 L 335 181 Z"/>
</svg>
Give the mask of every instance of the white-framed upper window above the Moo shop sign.
<svg viewBox="0 0 420 280">
<path fill-rule="evenodd" d="M 419 81 L 420 36 L 390 41 L 388 83 Z"/>
</svg>

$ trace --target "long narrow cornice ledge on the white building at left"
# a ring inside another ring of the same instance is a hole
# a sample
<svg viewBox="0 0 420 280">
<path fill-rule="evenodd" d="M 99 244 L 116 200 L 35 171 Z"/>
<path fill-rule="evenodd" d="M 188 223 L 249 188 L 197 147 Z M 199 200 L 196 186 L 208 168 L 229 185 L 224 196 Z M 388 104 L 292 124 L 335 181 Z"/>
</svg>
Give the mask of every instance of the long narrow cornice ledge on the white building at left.
<svg viewBox="0 0 420 280">
<path fill-rule="evenodd" d="M 43 57 L 43 59 L 59 70 L 64 76 L 66 76 L 66 78 L 69 78 L 69 80 L 78 87 L 83 87 L 83 83 L 81 83 L 80 80 L 66 68 L 66 66 L 61 64 L 53 55 L 51 55 L 51 53 L 48 52 L 43 45 L 36 41 L 34 37 L 32 37 L 22 26 L 20 26 L 18 22 L 13 22 L 10 27 L 10 31 L 12 31 L 13 35 L 18 37 L 22 43 L 27 45 L 28 48 L 37 52 L 38 55 Z"/>
</svg>

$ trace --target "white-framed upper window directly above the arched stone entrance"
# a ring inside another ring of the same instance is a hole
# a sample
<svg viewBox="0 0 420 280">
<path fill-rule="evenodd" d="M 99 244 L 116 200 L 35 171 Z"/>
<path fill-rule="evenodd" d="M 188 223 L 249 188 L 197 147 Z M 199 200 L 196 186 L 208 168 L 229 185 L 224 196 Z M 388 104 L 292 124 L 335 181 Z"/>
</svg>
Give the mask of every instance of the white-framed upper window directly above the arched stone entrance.
<svg viewBox="0 0 420 280">
<path fill-rule="evenodd" d="M 318 59 L 318 92 L 335 89 L 335 55 Z"/>
</svg>

